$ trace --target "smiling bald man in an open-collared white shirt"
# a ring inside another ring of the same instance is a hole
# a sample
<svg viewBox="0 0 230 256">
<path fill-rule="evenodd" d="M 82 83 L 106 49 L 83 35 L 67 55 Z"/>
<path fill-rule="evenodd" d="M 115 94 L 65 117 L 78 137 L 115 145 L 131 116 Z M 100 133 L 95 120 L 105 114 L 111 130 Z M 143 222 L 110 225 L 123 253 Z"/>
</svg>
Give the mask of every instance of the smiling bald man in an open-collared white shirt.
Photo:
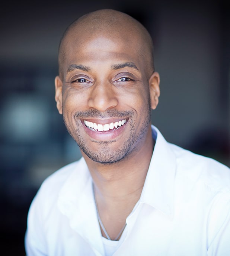
<svg viewBox="0 0 230 256">
<path fill-rule="evenodd" d="M 166 142 L 153 44 L 138 21 L 98 10 L 59 48 L 55 100 L 83 158 L 44 181 L 28 256 L 230 255 L 230 170 Z"/>
</svg>

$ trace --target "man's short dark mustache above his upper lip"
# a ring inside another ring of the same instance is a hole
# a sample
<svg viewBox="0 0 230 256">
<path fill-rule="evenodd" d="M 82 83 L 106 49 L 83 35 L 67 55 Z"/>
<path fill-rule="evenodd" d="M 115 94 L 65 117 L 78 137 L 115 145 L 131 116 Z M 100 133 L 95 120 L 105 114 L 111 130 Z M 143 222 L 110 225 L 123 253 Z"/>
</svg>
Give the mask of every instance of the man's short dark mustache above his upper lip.
<svg viewBox="0 0 230 256">
<path fill-rule="evenodd" d="M 100 112 L 99 110 L 92 109 L 87 111 L 78 111 L 74 114 L 74 119 L 77 118 L 110 118 L 110 117 L 132 117 L 134 115 L 134 111 L 118 111 L 115 109 L 106 110 L 105 112 Z"/>
</svg>

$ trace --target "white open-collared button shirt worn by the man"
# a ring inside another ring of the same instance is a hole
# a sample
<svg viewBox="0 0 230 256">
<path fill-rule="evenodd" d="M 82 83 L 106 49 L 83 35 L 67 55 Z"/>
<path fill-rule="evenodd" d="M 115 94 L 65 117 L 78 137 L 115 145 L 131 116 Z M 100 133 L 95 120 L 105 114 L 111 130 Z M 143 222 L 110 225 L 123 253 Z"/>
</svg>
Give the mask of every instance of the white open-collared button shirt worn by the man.
<svg viewBox="0 0 230 256">
<path fill-rule="evenodd" d="M 230 169 L 156 139 L 141 198 L 114 256 L 230 255 Z M 29 214 L 27 256 L 105 256 L 83 158 L 49 176 Z"/>
</svg>

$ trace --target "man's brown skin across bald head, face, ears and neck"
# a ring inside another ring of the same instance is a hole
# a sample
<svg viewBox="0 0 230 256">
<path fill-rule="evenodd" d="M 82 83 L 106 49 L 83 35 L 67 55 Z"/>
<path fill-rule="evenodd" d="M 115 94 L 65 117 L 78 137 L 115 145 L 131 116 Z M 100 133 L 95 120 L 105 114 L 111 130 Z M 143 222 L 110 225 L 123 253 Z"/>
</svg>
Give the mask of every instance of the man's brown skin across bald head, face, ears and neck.
<svg viewBox="0 0 230 256">
<path fill-rule="evenodd" d="M 80 146 L 100 217 L 114 239 L 140 198 L 154 148 L 150 114 L 158 104 L 160 78 L 150 36 L 124 13 L 90 13 L 65 34 L 59 67 L 57 108 Z M 108 128 L 122 120 L 121 127 Z"/>
</svg>

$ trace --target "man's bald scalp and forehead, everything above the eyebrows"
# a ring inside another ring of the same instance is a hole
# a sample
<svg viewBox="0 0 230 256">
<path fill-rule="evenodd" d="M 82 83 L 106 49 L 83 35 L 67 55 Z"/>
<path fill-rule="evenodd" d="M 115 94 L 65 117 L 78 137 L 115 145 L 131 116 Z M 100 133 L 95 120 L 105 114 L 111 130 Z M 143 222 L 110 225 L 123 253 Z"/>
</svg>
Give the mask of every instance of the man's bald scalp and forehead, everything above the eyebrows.
<svg viewBox="0 0 230 256">
<path fill-rule="evenodd" d="M 63 78 L 70 62 L 86 58 L 92 62 L 92 56 L 113 60 L 127 56 L 132 59 L 125 59 L 125 62 L 136 59 L 151 75 L 154 70 L 153 44 L 146 28 L 124 14 L 110 11 L 110 15 L 107 12 L 99 14 L 78 19 L 64 34 L 58 54 L 60 77 Z"/>
</svg>

